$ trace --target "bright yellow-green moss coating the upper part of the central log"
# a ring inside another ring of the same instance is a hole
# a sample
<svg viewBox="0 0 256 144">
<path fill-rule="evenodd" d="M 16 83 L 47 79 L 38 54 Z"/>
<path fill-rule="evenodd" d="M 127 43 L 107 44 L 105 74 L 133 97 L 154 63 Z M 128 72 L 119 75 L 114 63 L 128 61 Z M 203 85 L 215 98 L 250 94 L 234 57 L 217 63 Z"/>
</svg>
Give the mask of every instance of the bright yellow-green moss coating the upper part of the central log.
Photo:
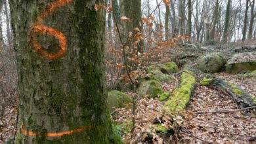
<svg viewBox="0 0 256 144">
<path fill-rule="evenodd" d="M 192 71 L 184 71 L 181 75 L 181 84 L 173 91 L 172 97 L 165 102 L 165 109 L 177 112 L 184 109 L 190 101 L 191 90 L 196 84 L 196 79 Z"/>
</svg>

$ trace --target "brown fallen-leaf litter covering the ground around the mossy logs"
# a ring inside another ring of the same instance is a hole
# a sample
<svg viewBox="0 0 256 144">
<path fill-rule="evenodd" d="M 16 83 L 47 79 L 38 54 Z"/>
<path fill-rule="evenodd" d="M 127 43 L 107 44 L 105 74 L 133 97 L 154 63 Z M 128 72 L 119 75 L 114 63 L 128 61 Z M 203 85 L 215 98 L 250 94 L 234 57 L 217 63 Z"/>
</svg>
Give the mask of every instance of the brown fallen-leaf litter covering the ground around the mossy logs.
<svg viewBox="0 0 256 144">
<path fill-rule="evenodd" d="M 221 77 L 241 86 L 247 92 L 256 95 L 256 79 L 241 79 L 238 75 L 219 73 L 215 77 Z M 173 84 L 163 84 L 163 88 L 172 92 L 177 82 Z M 127 143 L 145 143 L 147 137 L 145 132 L 154 120 L 160 117 L 163 102 L 156 99 L 142 98 L 137 103 L 137 117 L 135 135 L 131 139 L 131 134 L 123 136 Z M 249 139 L 256 138 L 256 117 L 255 115 L 243 115 L 242 111 L 234 113 L 209 113 L 194 114 L 198 111 L 232 111 L 239 109 L 236 103 L 228 96 L 217 90 L 200 86 L 198 84 L 194 97 L 189 103 L 188 117 L 182 123 L 182 129 L 174 137 L 162 138 L 154 135 L 153 143 L 249 143 Z M 131 127 L 131 109 L 117 109 L 113 116 L 118 124 L 126 123 Z M 128 122 L 127 122 L 128 121 Z M 130 123 L 130 124 L 129 124 Z M 204 142 L 202 140 L 204 140 Z M 207 141 L 207 142 L 206 142 Z"/>
</svg>

